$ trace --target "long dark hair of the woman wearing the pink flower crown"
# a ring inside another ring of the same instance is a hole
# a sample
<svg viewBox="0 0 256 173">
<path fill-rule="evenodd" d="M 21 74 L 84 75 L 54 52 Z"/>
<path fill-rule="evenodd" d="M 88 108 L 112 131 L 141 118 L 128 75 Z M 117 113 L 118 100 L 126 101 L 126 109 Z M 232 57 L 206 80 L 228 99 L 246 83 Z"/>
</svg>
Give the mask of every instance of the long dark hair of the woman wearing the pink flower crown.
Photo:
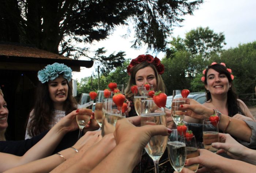
<svg viewBox="0 0 256 173">
<path fill-rule="evenodd" d="M 241 112 L 244 115 L 244 112 L 240 108 L 239 103 L 237 101 L 237 94 L 236 94 L 235 89 L 232 84 L 233 80 L 231 79 L 231 75 L 230 75 L 229 71 L 227 71 L 227 67 L 225 67 L 221 64 L 213 64 L 211 66 L 208 66 L 204 73 L 204 78 L 205 78 L 204 84 L 205 85 L 207 85 L 207 72 L 209 69 L 213 69 L 213 70 L 219 72 L 219 74 L 225 74 L 227 76 L 227 79 L 229 80 L 229 83 L 231 83 L 231 87 L 230 87 L 229 91 L 227 91 L 227 110 L 228 110 L 229 116 L 233 117 L 238 112 Z M 207 92 L 207 90 L 206 90 L 206 100 L 207 100 L 207 102 L 211 102 L 211 93 Z"/>
</svg>

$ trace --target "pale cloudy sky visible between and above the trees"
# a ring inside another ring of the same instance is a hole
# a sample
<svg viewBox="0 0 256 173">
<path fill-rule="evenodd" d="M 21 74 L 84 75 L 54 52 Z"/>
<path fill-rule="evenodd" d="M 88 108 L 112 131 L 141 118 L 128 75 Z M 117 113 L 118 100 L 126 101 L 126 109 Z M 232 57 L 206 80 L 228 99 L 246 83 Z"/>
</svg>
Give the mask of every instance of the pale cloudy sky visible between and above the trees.
<svg viewBox="0 0 256 173">
<path fill-rule="evenodd" d="M 172 36 L 177 37 L 179 35 L 184 38 L 185 33 L 192 29 L 209 27 L 215 33 L 223 32 L 227 43 L 225 49 L 256 41 L 255 7 L 256 0 L 205 0 L 199 9 L 194 11 L 193 16 L 183 16 L 185 21 L 181 23 L 182 27 L 175 27 Z M 158 54 L 153 51 L 147 52 L 146 46 L 139 50 L 131 48 L 131 41 L 134 38 L 132 36 L 126 39 L 122 37 L 127 33 L 128 27 L 117 27 L 108 39 L 86 44 L 86 46 L 91 47 L 91 50 L 105 47 L 105 50 L 108 50 L 106 56 L 118 51 L 124 51 L 125 58 L 131 59 L 146 53 L 157 56 L 159 59 L 165 56 L 163 52 Z M 129 29 L 132 30 L 131 27 Z M 81 57 L 80 60 L 88 59 Z M 91 68 L 81 67 L 80 72 L 73 72 L 73 79 L 80 81 L 81 78 L 91 76 L 93 72 L 95 74 L 95 68 L 97 68 L 96 63 Z"/>
</svg>

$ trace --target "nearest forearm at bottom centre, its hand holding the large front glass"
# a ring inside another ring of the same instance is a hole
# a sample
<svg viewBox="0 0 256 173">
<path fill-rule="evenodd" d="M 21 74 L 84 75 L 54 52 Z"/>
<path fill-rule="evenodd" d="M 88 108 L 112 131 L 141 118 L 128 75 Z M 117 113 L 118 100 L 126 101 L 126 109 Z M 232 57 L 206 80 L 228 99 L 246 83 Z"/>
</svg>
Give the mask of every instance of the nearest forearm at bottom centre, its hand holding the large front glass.
<svg viewBox="0 0 256 173">
<path fill-rule="evenodd" d="M 123 143 L 116 146 L 113 151 L 98 164 L 91 173 L 120 173 L 132 172 L 140 159 L 141 151 L 131 148 L 131 143 Z"/>
</svg>

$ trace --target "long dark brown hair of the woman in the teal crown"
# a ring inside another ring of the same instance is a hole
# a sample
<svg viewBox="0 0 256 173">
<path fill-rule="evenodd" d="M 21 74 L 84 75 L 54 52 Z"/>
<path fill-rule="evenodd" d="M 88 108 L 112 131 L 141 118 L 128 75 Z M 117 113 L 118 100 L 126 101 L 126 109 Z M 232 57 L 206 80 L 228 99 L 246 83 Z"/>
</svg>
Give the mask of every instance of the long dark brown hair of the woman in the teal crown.
<svg viewBox="0 0 256 173">
<path fill-rule="evenodd" d="M 67 79 L 66 79 L 67 80 Z M 76 109 L 77 102 L 72 96 L 72 85 L 68 84 L 68 96 L 64 102 L 65 114 L 71 113 Z M 35 103 L 33 108 L 33 117 L 29 122 L 27 129 L 30 136 L 35 136 L 42 133 L 45 130 L 49 130 L 49 124 L 54 114 L 53 101 L 50 99 L 48 82 L 41 83 L 38 81 L 38 85 L 35 93 Z"/>
</svg>

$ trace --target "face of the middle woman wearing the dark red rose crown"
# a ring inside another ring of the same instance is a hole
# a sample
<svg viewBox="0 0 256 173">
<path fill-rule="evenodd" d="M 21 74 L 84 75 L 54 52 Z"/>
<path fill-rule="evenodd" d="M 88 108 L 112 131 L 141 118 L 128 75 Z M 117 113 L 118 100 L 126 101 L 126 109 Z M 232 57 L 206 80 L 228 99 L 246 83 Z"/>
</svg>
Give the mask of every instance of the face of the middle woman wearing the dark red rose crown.
<svg viewBox="0 0 256 173">
<path fill-rule="evenodd" d="M 157 87 L 157 78 L 153 68 L 148 66 L 137 71 L 135 75 L 135 82 L 138 87 L 141 87 L 145 83 L 149 83 L 153 85 L 153 89 L 155 90 Z"/>
</svg>

